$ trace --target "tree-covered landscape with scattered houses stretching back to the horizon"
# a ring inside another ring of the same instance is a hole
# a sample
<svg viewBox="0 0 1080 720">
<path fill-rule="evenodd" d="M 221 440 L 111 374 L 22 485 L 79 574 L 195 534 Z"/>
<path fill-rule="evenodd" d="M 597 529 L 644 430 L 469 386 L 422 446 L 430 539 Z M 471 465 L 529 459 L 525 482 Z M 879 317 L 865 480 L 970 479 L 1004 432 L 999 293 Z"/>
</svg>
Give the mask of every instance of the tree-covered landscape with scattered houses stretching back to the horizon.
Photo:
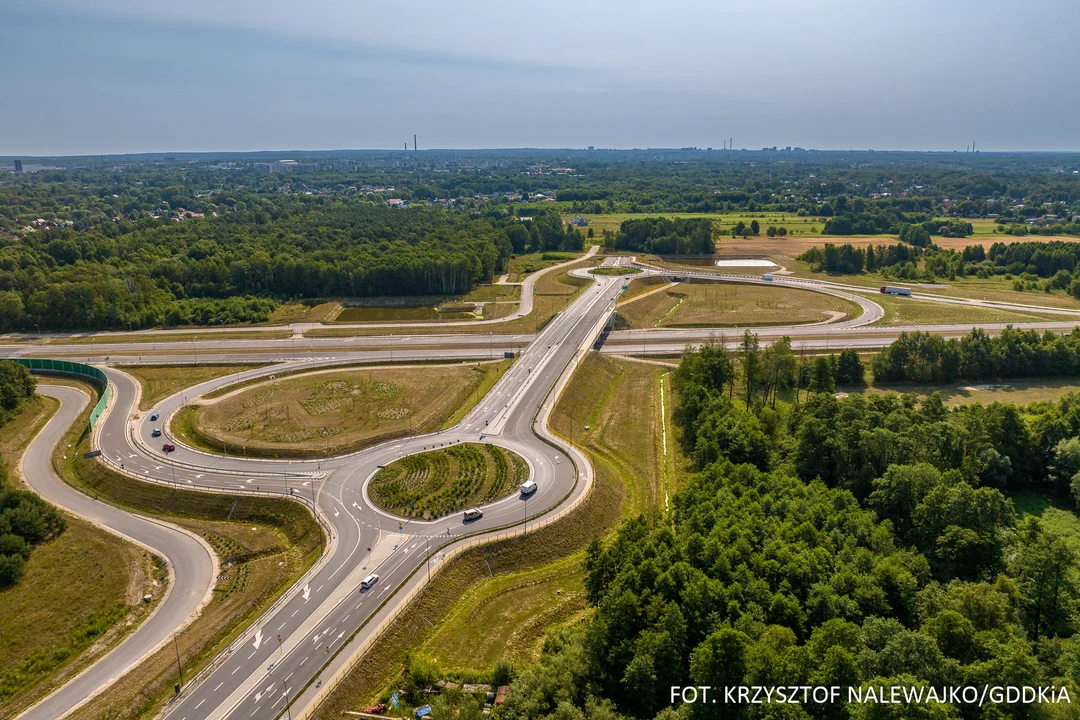
<svg viewBox="0 0 1080 720">
<path fill-rule="evenodd" d="M 573 213 L 640 215 L 605 243 L 663 254 L 708 253 L 711 232 L 707 219 L 662 213 L 824 217 L 826 233 L 901 241 L 811 259 L 827 272 L 1011 274 L 1018 289 L 1080 297 L 1077 253 L 1058 241 L 982 257 L 931 243 L 970 235 L 971 218 L 1002 234 L 1080 233 L 1068 154 L 343 151 L 298 153 L 287 173 L 280 160 L 59 158 L 3 173 L 0 331 L 258 323 L 295 299 L 464 294 L 512 255 L 583 247 L 565 222 Z M 737 233 L 773 232 L 739 222 Z"/>
</svg>

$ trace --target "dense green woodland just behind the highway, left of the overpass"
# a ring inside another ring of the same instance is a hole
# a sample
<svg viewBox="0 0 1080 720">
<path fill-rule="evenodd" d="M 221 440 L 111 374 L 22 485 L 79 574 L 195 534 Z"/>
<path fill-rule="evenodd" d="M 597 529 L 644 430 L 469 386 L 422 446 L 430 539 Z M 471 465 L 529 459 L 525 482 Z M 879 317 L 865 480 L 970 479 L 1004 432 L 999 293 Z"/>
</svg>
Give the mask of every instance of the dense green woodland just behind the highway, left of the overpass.
<svg viewBox="0 0 1080 720">
<path fill-rule="evenodd" d="M 369 203 L 59 228 L 0 243 L 0 329 L 259 322 L 279 301 L 459 295 L 514 253 L 580 250 L 562 219 Z"/>
</svg>

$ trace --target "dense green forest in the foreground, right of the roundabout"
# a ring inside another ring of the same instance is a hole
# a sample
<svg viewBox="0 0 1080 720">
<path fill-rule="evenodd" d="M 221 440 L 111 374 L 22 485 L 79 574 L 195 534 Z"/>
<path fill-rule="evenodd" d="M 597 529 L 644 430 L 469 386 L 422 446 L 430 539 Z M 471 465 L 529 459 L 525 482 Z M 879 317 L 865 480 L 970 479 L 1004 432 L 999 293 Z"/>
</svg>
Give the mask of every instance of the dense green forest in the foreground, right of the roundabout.
<svg viewBox="0 0 1080 720">
<path fill-rule="evenodd" d="M 991 701 L 671 707 L 688 684 L 1080 690 L 1075 540 L 1013 502 L 1076 506 L 1080 395 L 949 408 L 818 379 L 774 404 L 770 378 L 835 381 L 841 365 L 778 344 L 685 354 L 685 487 L 590 547 L 591 616 L 549 636 L 500 717 L 1062 717 Z"/>
</svg>

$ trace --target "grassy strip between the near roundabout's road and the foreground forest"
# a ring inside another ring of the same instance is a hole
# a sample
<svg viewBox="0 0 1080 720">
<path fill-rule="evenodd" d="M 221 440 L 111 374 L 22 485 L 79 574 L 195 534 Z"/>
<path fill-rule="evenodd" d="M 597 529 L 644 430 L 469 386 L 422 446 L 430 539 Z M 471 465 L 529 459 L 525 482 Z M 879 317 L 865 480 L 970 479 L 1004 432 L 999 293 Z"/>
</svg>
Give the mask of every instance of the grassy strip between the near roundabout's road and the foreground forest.
<svg viewBox="0 0 1080 720">
<path fill-rule="evenodd" d="M 591 494 L 554 525 L 451 560 L 313 717 L 337 720 L 346 710 L 363 709 L 399 676 L 410 650 L 423 649 L 456 677 L 484 677 L 491 658 L 534 658 L 552 625 L 583 616 L 588 611 L 577 593 L 584 548 L 623 517 L 662 503 L 664 483 L 674 481 L 662 466 L 681 466 L 670 424 L 670 460 L 661 460 L 659 378 L 665 372 L 590 353 L 552 424 L 567 437 L 572 430 L 589 453 L 596 471 Z M 670 418 L 670 396 L 666 410 Z"/>
</svg>

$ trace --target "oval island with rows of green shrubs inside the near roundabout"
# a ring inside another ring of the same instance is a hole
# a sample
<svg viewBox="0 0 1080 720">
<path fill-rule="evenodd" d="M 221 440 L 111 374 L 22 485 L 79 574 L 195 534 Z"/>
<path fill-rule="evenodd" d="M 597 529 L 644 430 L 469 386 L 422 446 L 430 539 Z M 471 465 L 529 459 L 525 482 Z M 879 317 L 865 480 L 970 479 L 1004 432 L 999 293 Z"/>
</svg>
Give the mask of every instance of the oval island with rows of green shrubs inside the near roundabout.
<svg viewBox="0 0 1080 720">
<path fill-rule="evenodd" d="M 517 491 L 529 467 L 513 452 L 462 443 L 396 460 L 372 478 L 372 501 L 400 517 L 432 520 Z"/>
</svg>

